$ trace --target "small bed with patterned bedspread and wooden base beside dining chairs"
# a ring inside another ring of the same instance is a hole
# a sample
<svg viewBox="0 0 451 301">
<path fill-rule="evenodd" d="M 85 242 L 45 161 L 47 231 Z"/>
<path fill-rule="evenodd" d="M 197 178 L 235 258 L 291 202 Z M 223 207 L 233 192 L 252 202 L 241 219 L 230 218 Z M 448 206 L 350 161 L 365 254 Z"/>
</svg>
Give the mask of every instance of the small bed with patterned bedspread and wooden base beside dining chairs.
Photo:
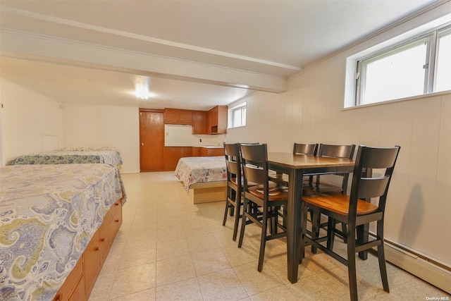
<svg viewBox="0 0 451 301">
<path fill-rule="evenodd" d="M 225 156 L 181 158 L 174 173 L 182 181 L 194 204 L 226 200 L 227 168 Z"/>
</svg>

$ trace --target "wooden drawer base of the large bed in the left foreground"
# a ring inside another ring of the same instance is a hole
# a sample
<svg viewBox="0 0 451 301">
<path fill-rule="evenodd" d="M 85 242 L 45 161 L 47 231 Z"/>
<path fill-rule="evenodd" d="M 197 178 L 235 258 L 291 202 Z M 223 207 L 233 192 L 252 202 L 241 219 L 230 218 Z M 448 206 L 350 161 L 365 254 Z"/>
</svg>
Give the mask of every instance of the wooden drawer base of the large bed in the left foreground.
<svg viewBox="0 0 451 301">
<path fill-rule="evenodd" d="M 104 216 L 100 228 L 53 300 L 88 300 L 104 265 L 114 238 L 122 224 L 122 199 L 118 199 Z"/>
</svg>

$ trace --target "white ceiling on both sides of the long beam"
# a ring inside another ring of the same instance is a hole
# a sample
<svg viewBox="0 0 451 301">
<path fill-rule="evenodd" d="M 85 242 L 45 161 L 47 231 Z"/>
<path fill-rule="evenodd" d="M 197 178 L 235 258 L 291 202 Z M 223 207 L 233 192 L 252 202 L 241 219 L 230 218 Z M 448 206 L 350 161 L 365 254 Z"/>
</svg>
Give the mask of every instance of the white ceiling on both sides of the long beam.
<svg viewBox="0 0 451 301">
<path fill-rule="evenodd" d="M 1 0 L 0 28 L 286 79 L 435 2 Z M 252 92 L 150 75 L 156 96 L 143 101 L 132 94 L 142 74 L 4 53 L 0 75 L 60 102 L 154 109 L 210 109 Z"/>
</svg>

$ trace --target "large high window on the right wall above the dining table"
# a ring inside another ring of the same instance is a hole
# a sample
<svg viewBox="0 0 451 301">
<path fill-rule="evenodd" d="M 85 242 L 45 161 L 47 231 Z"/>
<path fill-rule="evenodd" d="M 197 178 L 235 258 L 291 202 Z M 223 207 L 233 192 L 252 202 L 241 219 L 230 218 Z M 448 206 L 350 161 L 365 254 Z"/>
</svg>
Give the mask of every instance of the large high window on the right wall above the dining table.
<svg viewBox="0 0 451 301">
<path fill-rule="evenodd" d="M 354 105 L 451 90 L 451 26 L 357 61 Z"/>
</svg>

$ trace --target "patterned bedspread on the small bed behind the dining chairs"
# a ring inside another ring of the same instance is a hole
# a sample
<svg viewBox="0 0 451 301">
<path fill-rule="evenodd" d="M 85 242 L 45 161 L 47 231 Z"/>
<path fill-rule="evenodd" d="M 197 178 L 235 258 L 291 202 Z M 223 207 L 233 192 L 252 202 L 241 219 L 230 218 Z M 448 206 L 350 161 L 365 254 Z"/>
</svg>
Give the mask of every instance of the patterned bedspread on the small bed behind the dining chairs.
<svg viewBox="0 0 451 301">
<path fill-rule="evenodd" d="M 225 156 L 190 156 L 180 158 L 175 167 L 175 176 L 183 182 L 185 190 L 190 185 L 202 182 L 227 180 Z"/>
</svg>

